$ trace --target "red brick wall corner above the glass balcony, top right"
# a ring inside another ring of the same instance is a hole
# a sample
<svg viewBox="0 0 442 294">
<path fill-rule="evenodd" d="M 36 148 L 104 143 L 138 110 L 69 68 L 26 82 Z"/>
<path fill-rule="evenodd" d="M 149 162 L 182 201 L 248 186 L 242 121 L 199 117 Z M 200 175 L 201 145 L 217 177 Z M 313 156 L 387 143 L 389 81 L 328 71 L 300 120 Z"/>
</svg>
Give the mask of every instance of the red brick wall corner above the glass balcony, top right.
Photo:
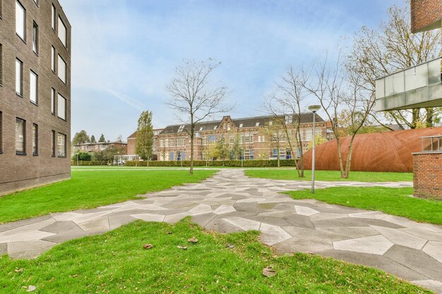
<svg viewBox="0 0 442 294">
<path fill-rule="evenodd" d="M 412 32 L 442 19 L 442 0 L 411 0 Z M 440 25 L 440 23 L 439 23 Z"/>
</svg>

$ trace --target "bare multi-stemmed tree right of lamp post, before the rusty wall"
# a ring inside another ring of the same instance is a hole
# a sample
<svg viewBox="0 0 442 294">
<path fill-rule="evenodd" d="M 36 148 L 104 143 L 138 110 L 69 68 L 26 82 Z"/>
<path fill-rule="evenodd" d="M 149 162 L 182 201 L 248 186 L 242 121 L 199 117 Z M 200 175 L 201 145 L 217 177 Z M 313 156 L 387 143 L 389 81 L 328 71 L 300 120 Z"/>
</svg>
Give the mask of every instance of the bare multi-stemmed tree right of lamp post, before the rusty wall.
<svg viewBox="0 0 442 294">
<path fill-rule="evenodd" d="M 352 163 L 354 137 L 364 125 L 371 109 L 373 109 L 374 93 L 366 94 L 359 75 L 342 72 L 339 58 L 333 67 L 328 65 L 325 58 L 325 61 L 316 66 L 313 72 L 313 81 L 306 82 L 304 87 L 318 99 L 323 111 L 328 116 L 338 145 L 341 178 L 348 178 Z M 341 152 L 341 138 L 344 135 L 341 131 L 344 124 L 342 115 L 340 115 L 342 111 L 347 114 L 347 134 L 350 135 L 350 144 L 345 159 L 342 158 Z"/>
</svg>

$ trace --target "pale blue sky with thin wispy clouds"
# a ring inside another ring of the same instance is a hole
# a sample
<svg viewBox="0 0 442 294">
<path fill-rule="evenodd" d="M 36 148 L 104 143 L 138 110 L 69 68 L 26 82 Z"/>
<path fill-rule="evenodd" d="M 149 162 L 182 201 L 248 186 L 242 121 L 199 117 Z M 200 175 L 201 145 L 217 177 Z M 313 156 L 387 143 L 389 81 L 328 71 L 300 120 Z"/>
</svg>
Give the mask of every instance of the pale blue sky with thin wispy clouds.
<svg viewBox="0 0 442 294">
<path fill-rule="evenodd" d="M 403 0 L 60 0 L 72 25 L 72 133 L 107 140 L 136 130 L 143 109 L 155 128 L 177 123 L 166 85 L 184 59 L 221 61 L 235 118 L 263 114 L 263 97 L 290 64 L 348 47 Z M 309 102 L 306 102 L 309 103 Z"/>
</svg>

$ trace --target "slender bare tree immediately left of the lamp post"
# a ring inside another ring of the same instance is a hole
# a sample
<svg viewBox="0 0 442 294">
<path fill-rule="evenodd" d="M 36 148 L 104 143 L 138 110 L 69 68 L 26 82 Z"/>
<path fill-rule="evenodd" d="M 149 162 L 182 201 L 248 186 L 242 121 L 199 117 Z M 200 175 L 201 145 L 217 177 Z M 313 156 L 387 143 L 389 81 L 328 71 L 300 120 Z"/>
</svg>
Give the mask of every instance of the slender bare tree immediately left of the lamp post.
<svg viewBox="0 0 442 294">
<path fill-rule="evenodd" d="M 293 66 L 289 66 L 285 75 L 282 75 L 280 81 L 276 83 L 275 93 L 265 99 L 265 111 L 273 115 L 274 120 L 282 126 L 289 148 L 292 152 L 299 150 L 299 160 L 294 160 L 300 178 L 304 178 L 304 151 L 299 128 L 302 114 L 301 104 L 306 97 L 303 85 L 308 80 L 309 75 L 306 75 L 306 71 L 295 72 Z"/>
</svg>

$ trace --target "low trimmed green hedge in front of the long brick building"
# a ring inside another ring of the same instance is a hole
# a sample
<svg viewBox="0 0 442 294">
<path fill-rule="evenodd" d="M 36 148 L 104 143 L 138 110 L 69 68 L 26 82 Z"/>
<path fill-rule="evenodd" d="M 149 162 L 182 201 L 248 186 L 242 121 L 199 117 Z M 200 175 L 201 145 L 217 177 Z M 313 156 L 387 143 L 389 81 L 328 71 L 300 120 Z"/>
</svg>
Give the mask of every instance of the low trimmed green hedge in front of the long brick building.
<svg viewBox="0 0 442 294">
<path fill-rule="evenodd" d="M 190 166 L 190 160 L 183 161 L 149 161 L 149 166 Z M 148 161 L 126 161 L 126 166 L 147 166 Z M 233 166 L 241 167 L 241 160 L 194 160 L 193 166 Z M 277 160 L 252 159 L 244 160 L 244 167 L 277 167 Z M 280 160 L 280 166 L 295 166 L 293 159 Z"/>
</svg>

